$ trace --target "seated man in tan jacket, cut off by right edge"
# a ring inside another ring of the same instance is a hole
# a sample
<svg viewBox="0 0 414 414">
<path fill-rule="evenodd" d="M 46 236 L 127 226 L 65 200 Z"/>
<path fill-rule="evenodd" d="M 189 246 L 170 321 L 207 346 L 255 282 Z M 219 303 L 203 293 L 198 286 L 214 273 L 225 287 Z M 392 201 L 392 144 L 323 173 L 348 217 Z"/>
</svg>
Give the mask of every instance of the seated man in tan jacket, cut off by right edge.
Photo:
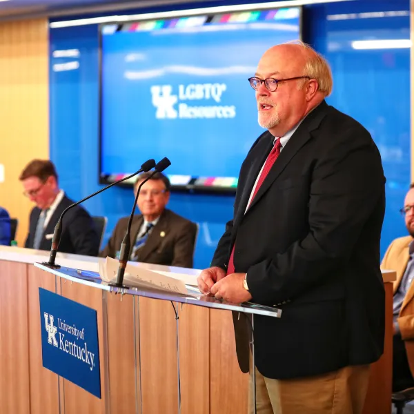
<svg viewBox="0 0 414 414">
<path fill-rule="evenodd" d="M 395 270 L 393 291 L 393 392 L 414 386 L 414 184 L 401 209 L 409 236 L 395 239 L 381 268 Z"/>
</svg>

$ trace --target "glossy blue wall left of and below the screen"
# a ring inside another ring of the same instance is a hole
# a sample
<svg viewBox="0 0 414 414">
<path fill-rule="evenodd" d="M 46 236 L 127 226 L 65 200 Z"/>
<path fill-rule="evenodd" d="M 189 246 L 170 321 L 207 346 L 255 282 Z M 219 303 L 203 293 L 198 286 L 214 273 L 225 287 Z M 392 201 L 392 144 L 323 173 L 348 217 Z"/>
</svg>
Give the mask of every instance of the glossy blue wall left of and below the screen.
<svg viewBox="0 0 414 414">
<path fill-rule="evenodd" d="M 79 57 L 59 57 L 60 50 L 79 50 Z M 69 70 L 73 67 L 72 70 Z M 99 59 L 97 26 L 50 32 L 50 159 L 59 184 L 69 197 L 81 199 L 98 184 Z M 137 169 L 144 160 L 137 157 Z M 199 224 L 195 267 L 210 264 L 224 225 L 233 214 L 233 196 L 173 193 L 168 207 Z M 103 243 L 119 217 L 130 214 L 132 189 L 110 190 L 85 202 L 92 215 L 106 215 Z"/>
</svg>

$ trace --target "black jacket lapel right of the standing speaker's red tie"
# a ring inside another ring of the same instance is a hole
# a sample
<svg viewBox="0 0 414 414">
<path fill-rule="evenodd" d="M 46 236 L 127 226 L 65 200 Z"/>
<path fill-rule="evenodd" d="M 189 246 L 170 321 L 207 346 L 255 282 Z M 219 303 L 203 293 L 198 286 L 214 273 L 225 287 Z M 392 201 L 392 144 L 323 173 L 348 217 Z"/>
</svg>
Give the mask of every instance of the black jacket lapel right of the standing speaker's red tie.
<svg viewBox="0 0 414 414">
<path fill-rule="evenodd" d="M 311 139 L 311 131 L 315 130 L 319 126 L 322 119 L 326 115 L 327 109 L 328 105 L 325 101 L 322 101 L 322 103 L 320 103 L 320 105 L 308 114 L 304 121 L 302 121 L 302 124 L 299 125 L 299 128 L 297 128 L 292 137 L 290 137 L 285 148 L 282 148 L 282 152 L 280 152 L 275 164 L 273 164 L 273 167 L 268 172 L 262 186 L 260 186 L 257 191 L 257 194 L 251 202 L 248 211 L 262 198 L 264 193 L 266 193 L 268 188 L 273 184 L 277 177 L 279 177 L 297 151 L 299 151 L 300 148 L 302 148 L 302 146 L 304 146 L 304 144 Z"/>
</svg>

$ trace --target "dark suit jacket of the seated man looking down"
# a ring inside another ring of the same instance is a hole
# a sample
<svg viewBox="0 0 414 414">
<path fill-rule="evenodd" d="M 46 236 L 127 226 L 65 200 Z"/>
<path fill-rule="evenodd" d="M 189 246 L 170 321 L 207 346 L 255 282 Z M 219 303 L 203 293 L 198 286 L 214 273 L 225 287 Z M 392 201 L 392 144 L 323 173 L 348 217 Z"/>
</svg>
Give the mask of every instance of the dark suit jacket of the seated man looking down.
<svg viewBox="0 0 414 414">
<path fill-rule="evenodd" d="M 52 246 L 51 235 L 53 235 L 57 221 L 63 210 L 73 203 L 75 201 L 66 196 L 61 199 L 43 231 L 40 250 L 50 250 Z M 29 234 L 25 244 L 27 248 L 33 248 L 34 234 L 36 233 L 36 225 L 40 213 L 41 210 L 37 207 L 34 207 L 30 213 Z M 61 253 L 74 253 L 76 255 L 98 255 L 99 236 L 92 217 L 83 207 L 75 206 L 63 216 L 61 241 L 57 251 Z"/>
</svg>

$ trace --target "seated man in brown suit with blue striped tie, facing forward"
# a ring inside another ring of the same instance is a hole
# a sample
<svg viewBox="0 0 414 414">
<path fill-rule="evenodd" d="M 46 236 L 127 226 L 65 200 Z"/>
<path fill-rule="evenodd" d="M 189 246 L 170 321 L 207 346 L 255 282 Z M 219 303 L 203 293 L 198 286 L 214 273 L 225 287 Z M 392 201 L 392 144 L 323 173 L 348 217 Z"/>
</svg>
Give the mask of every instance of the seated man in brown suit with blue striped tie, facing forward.
<svg viewBox="0 0 414 414">
<path fill-rule="evenodd" d="M 139 184 L 150 175 L 139 175 L 134 186 L 137 194 Z M 137 206 L 141 215 L 132 219 L 130 230 L 130 260 L 166 266 L 193 267 L 193 253 L 197 226 L 171 210 L 166 209 L 170 198 L 170 180 L 158 173 L 141 187 Z M 122 239 L 126 233 L 129 217 L 117 222 L 102 257 L 118 257 Z"/>
</svg>

